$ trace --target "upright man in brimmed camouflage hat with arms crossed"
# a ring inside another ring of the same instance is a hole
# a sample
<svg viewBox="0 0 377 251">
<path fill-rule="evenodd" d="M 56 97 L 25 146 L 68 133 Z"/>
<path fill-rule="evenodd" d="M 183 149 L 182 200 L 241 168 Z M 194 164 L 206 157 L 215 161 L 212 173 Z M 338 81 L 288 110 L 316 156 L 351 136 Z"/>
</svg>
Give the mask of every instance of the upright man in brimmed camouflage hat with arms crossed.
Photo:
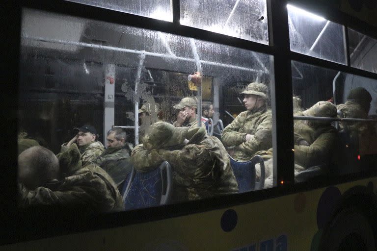
<svg viewBox="0 0 377 251">
<path fill-rule="evenodd" d="M 234 159 L 245 162 L 272 147 L 272 114 L 265 84 L 250 83 L 242 94 L 246 111 L 224 128 L 221 139 Z"/>
</svg>

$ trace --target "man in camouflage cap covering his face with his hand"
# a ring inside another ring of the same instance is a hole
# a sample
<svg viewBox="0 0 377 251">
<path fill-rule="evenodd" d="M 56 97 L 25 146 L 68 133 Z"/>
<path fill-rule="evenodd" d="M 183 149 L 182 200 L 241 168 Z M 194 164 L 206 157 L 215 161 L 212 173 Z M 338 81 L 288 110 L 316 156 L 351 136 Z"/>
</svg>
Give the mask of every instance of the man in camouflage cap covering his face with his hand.
<svg viewBox="0 0 377 251">
<path fill-rule="evenodd" d="M 177 120 L 173 123 L 173 126 L 188 126 L 190 127 L 190 129 L 198 127 L 198 122 L 196 120 L 197 102 L 195 98 L 183 98 L 178 104 L 174 105 L 173 107 L 179 110 Z M 203 122 L 202 127 L 206 129 L 206 125 Z"/>
</svg>

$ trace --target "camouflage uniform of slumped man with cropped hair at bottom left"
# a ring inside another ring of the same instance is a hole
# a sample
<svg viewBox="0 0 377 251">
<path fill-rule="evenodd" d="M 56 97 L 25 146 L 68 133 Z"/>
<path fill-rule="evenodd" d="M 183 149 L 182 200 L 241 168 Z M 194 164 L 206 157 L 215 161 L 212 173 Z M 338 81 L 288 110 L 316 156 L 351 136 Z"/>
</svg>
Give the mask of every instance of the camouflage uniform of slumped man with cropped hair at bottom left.
<svg viewBox="0 0 377 251">
<path fill-rule="evenodd" d="M 88 213 L 122 210 L 123 200 L 114 181 L 95 164 L 81 165 L 76 144 L 57 155 L 62 180 L 29 191 L 20 187 L 21 206 L 59 205 Z"/>
</svg>

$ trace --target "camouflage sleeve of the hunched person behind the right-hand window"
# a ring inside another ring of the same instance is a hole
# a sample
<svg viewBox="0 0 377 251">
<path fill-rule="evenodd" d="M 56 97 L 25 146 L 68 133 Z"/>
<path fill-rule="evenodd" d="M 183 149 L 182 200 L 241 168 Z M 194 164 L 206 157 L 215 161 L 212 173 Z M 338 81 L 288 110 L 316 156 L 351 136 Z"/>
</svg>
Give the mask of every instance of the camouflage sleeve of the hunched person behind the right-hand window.
<svg viewBox="0 0 377 251">
<path fill-rule="evenodd" d="M 334 132 L 322 133 L 310 146 L 295 145 L 295 161 L 306 168 L 329 161 L 336 143 Z"/>
</svg>

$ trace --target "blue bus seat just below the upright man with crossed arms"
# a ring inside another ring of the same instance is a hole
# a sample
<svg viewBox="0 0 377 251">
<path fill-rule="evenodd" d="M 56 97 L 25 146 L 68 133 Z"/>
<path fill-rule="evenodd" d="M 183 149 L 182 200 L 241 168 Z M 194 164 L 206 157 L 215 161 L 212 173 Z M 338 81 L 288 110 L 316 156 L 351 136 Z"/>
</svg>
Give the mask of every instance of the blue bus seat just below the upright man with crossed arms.
<svg viewBox="0 0 377 251">
<path fill-rule="evenodd" d="M 232 166 L 234 176 L 236 176 L 238 189 L 240 193 L 262 189 L 265 185 L 265 163 L 260 155 L 255 155 L 247 162 L 239 162 L 230 157 L 230 165 Z M 260 163 L 261 177 L 257 182 L 255 164 Z"/>
</svg>

